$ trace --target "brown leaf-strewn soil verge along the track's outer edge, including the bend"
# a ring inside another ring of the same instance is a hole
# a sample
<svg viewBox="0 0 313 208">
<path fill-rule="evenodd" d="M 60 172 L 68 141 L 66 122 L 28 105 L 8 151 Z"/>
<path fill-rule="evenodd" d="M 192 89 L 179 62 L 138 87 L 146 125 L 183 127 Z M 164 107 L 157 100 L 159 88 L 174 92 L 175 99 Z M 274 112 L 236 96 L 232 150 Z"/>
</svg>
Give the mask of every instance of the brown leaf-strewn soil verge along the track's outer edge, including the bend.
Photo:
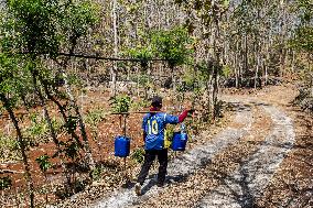
<svg viewBox="0 0 313 208">
<path fill-rule="evenodd" d="M 237 95 L 236 95 L 237 96 Z M 293 85 L 272 86 L 250 94 L 273 103 L 293 119 L 295 142 L 256 206 L 313 207 L 313 114 L 292 105 L 298 96 Z M 249 97 L 250 97 L 249 96 Z M 244 95 L 244 97 L 247 97 Z"/>
</svg>

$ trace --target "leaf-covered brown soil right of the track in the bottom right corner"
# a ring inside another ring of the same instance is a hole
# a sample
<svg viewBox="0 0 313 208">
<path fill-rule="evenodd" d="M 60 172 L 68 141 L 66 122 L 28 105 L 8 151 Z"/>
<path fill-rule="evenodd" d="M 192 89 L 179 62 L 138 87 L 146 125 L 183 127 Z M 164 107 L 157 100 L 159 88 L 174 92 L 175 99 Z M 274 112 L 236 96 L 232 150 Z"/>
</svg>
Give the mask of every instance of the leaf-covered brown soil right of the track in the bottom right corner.
<svg viewBox="0 0 313 208">
<path fill-rule="evenodd" d="M 259 207 L 313 206 L 313 117 L 289 107 L 294 119 L 295 144 L 267 187 Z"/>
</svg>

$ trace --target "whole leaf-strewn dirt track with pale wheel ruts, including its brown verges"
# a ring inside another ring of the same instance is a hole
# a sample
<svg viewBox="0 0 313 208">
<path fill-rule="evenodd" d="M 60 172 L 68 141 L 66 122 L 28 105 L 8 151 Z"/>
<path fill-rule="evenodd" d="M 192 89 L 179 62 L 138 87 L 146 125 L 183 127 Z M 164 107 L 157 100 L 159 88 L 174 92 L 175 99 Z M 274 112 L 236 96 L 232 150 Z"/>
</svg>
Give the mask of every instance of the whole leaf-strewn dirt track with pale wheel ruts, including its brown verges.
<svg viewBox="0 0 313 208">
<path fill-rule="evenodd" d="M 154 169 L 142 196 L 133 183 L 95 185 L 56 207 L 313 207 L 313 119 L 292 106 L 296 94 L 288 84 L 224 91 L 234 110 L 227 127 L 202 132 L 173 158 L 164 187 Z"/>
</svg>

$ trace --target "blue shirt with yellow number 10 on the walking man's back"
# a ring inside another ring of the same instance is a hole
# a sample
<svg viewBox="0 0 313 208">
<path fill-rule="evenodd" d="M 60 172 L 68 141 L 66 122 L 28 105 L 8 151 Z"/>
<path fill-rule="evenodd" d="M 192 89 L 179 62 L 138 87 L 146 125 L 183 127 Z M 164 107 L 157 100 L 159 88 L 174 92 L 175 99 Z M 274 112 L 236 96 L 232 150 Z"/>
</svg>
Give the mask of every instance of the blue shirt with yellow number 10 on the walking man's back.
<svg viewBox="0 0 313 208">
<path fill-rule="evenodd" d="M 143 117 L 142 129 L 147 133 L 145 150 L 162 150 L 164 147 L 164 130 L 168 123 L 179 123 L 179 117 L 164 112 L 147 113 Z"/>
</svg>

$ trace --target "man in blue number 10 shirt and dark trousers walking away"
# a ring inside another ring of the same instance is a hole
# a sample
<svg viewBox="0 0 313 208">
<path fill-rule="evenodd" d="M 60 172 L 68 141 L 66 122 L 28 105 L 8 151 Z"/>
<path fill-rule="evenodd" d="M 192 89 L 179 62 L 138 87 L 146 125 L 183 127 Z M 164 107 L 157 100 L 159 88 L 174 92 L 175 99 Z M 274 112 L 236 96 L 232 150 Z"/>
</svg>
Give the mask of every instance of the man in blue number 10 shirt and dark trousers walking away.
<svg viewBox="0 0 313 208">
<path fill-rule="evenodd" d="M 168 168 L 168 149 L 164 146 L 164 130 L 168 123 L 177 124 L 184 121 L 187 113 L 193 110 L 184 110 L 179 117 L 160 112 L 162 108 L 162 98 L 155 96 L 152 98 L 151 109 L 149 113 L 143 117 L 142 129 L 144 140 L 144 162 L 138 176 L 134 191 L 139 196 L 141 195 L 141 186 L 143 185 L 149 169 L 158 156 L 159 161 L 159 174 L 158 183 L 159 187 L 164 185 L 166 168 Z"/>
</svg>

